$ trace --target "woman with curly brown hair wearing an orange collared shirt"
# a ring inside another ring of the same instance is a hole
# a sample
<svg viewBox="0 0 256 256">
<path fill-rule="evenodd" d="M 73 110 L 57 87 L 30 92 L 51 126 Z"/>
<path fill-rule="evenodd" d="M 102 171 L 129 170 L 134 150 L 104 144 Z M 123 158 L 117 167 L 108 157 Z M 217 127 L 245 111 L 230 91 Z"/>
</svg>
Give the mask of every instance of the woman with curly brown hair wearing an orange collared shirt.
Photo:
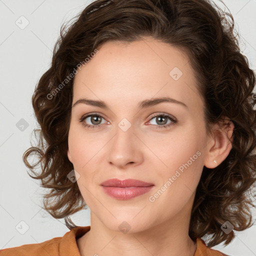
<svg viewBox="0 0 256 256">
<path fill-rule="evenodd" d="M 23 155 L 70 231 L 0 255 L 225 255 L 210 247 L 252 225 L 254 85 L 232 15 L 212 2 L 89 4 L 61 28 Z M 90 226 L 76 226 L 87 206 Z"/>
</svg>

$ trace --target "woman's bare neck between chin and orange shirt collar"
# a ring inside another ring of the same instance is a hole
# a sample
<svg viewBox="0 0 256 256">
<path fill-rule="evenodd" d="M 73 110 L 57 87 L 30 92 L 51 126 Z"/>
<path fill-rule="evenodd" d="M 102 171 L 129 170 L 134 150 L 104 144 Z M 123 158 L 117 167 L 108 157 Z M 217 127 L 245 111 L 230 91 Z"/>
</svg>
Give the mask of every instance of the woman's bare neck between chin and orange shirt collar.
<svg viewBox="0 0 256 256">
<path fill-rule="evenodd" d="M 107 228 L 92 212 L 90 230 L 77 239 L 81 256 L 193 256 L 196 242 L 188 235 L 189 221 L 180 212 L 175 219 L 139 232 L 122 233 Z M 188 218 L 189 220 L 189 218 Z"/>
</svg>

